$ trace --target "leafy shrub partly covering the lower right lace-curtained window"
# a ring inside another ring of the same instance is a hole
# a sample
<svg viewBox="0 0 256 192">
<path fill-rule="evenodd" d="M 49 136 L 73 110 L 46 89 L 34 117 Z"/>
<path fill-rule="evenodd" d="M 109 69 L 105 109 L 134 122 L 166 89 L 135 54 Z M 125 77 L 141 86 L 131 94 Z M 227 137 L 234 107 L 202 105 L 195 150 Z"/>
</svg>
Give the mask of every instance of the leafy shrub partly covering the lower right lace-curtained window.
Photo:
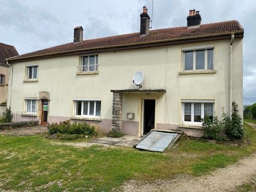
<svg viewBox="0 0 256 192">
<path fill-rule="evenodd" d="M 202 127 L 204 129 L 205 139 L 221 140 L 220 133 L 222 126 L 217 116 L 211 118 L 206 115 L 205 118 L 202 119 Z"/>
</svg>

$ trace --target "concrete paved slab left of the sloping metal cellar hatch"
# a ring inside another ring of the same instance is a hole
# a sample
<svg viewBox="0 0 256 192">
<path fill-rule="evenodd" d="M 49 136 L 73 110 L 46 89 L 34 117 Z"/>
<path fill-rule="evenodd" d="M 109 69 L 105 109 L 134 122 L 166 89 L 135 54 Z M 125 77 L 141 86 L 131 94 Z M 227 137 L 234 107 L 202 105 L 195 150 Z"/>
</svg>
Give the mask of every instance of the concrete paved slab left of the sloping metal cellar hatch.
<svg viewBox="0 0 256 192">
<path fill-rule="evenodd" d="M 141 140 L 140 137 L 125 135 L 122 138 L 110 138 L 110 137 L 102 137 L 98 139 L 93 139 L 90 142 L 101 143 L 106 145 L 114 145 L 114 146 L 121 146 L 121 147 L 133 147 L 137 145 Z"/>
</svg>

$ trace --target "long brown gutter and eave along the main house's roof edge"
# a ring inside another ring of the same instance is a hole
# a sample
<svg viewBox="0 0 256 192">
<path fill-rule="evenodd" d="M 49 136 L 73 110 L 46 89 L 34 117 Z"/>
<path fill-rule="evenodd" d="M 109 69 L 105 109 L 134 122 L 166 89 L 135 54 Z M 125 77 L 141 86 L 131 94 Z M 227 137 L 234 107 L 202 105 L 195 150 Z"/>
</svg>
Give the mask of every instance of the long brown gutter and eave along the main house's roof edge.
<svg viewBox="0 0 256 192">
<path fill-rule="evenodd" d="M 51 58 L 51 57 L 58 57 L 64 55 L 74 55 L 74 54 L 85 54 L 85 53 L 95 53 L 95 52 L 109 52 L 109 51 L 120 51 L 120 50 L 130 50 L 130 49 L 142 49 L 154 46 L 166 46 L 166 45 L 174 45 L 174 44 L 185 44 L 185 43 L 196 43 L 196 42 L 203 42 L 203 41 L 216 41 L 222 39 L 229 39 L 230 32 L 228 33 L 220 33 L 220 34 L 213 34 L 213 35 L 201 35 L 201 36 L 192 36 L 192 37 L 182 37 L 182 38 L 174 38 L 174 39 L 166 39 L 162 41 L 151 41 L 151 42 L 142 42 L 142 43 L 131 43 L 131 44 L 123 44 L 123 45 L 110 45 L 110 46 L 101 46 L 101 47 L 93 47 L 89 49 L 80 49 L 74 51 L 62 51 L 57 53 L 47 53 L 47 54 L 40 54 L 40 55 L 33 55 L 29 57 L 12 57 L 5 59 L 8 60 L 9 63 L 11 62 L 18 62 L 18 61 L 26 61 L 26 60 L 35 60 L 35 59 L 42 59 L 42 58 Z M 233 34 L 237 34 L 237 38 L 243 38 L 244 30 L 237 30 L 233 31 Z M 21 56 L 21 55 L 20 55 Z"/>
</svg>

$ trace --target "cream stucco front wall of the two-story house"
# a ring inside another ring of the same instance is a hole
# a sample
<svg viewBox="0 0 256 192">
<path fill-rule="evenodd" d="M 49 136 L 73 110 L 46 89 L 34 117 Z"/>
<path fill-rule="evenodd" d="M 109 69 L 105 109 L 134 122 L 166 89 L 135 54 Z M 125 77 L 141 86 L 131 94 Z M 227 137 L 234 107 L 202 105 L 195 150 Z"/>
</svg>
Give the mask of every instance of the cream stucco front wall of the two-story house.
<svg viewBox="0 0 256 192">
<path fill-rule="evenodd" d="M 133 74 L 141 70 L 145 75 L 143 89 L 165 89 L 165 94 L 124 93 L 123 127 L 125 133 L 138 133 L 142 129 L 142 101 L 156 99 L 155 125 L 160 128 L 178 127 L 181 124 L 181 99 L 214 99 L 219 117 L 222 108 L 229 109 L 229 40 L 182 44 L 150 49 L 105 52 L 99 54 L 99 74 L 76 75 L 79 55 L 13 63 L 12 91 L 9 87 L 9 104 L 13 111 L 24 110 L 24 98 L 37 98 L 39 91 L 50 93 L 50 121 L 73 116 L 73 98 L 101 99 L 101 123 L 111 129 L 113 93 L 110 90 L 137 89 L 132 83 Z M 179 75 L 181 48 L 186 46 L 214 45 L 214 74 Z M 233 58 L 233 99 L 242 115 L 243 71 L 242 39 L 235 39 Z M 38 82 L 25 83 L 26 65 L 38 65 Z M 11 102 L 11 103 L 10 103 Z M 126 118 L 135 113 L 135 118 Z M 107 122 L 107 123 L 106 123 Z M 130 129 L 130 130 L 129 130 Z"/>
</svg>

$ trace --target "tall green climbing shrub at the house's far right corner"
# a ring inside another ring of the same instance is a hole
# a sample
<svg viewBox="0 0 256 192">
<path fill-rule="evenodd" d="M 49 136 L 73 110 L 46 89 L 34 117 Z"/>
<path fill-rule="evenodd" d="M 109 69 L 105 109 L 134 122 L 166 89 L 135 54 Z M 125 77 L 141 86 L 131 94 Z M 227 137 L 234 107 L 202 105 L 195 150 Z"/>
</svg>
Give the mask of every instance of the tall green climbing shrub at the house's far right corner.
<svg viewBox="0 0 256 192">
<path fill-rule="evenodd" d="M 233 113 L 230 117 L 226 114 L 223 114 L 223 129 L 227 137 L 231 140 L 242 139 L 244 136 L 244 129 L 242 125 L 242 119 L 238 114 L 238 105 L 235 101 L 232 102 Z"/>
</svg>

